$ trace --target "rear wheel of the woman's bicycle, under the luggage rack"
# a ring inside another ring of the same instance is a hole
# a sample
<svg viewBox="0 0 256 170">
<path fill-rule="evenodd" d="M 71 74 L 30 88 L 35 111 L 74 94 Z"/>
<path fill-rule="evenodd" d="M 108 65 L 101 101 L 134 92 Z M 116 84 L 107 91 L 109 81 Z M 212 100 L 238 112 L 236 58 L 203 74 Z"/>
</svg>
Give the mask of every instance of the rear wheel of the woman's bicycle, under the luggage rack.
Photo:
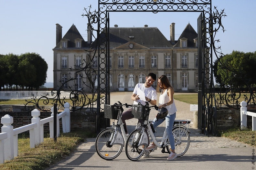
<svg viewBox="0 0 256 170">
<path fill-rule="evenodd" d="M 175 127 L 172 130 L 174 141 L 175 141 L 175 152 L 177 157 L 184 155 L 187 152 L 187 149 L 190 144 L 190 136 L 187 130 L 183 127 Z M 167 140 L 169 142 L 169 140 Z M 166 146 L 166 150 L 168 153 L 171 153 L 171 146 Z"/>
</svg>

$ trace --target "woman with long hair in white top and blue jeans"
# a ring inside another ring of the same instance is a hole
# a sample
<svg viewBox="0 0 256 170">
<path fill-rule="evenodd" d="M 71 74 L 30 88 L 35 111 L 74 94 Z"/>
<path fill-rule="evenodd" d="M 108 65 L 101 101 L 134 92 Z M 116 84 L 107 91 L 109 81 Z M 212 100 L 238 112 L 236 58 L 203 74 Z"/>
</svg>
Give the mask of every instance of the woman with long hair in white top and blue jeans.
<svg viewBox="0 0 256 170">
<path fill-rule="evenodd" d="M 166 123 L 165 128 L 166 128 L 166 132 L 167 132 L 168 139 L 171 145 L 171 150 L 172 150 L 170 156 L 167 159 L 173 160 L 174 158 L 177 157 L 177 154 L 175 153 L 174 137 L 172 135 L 173 123 L 176 118 L 177 109 L 173 99 L 173 94 L 174 94 L 173 87 L 171 86 L 167 76 L 165 75 L 158 77 L 158 84 L 156 87 L 156 91 L 160 93 L 160 89 L 161 89 L 161 94 L 159 96 L 158 106 L 159 106 L 159 109 L 161 109 L 162 107 L 165 107 L 168 110 L 168 115 L 165 117 L 165 119 L 157 120 L 155 118 L 152 124 L 155 129 L 158 125 L 160 125 L 161 123 L 163 123 L 163 121 L 165 121 Z M 154 149 L 155 147 L 156 146 L 153 142 L 146 148 L 146 150 L 151 150 L 151 149 Z M 149 157 L 149 152 L 145 152 L 143 157 Z"/>
</svg>

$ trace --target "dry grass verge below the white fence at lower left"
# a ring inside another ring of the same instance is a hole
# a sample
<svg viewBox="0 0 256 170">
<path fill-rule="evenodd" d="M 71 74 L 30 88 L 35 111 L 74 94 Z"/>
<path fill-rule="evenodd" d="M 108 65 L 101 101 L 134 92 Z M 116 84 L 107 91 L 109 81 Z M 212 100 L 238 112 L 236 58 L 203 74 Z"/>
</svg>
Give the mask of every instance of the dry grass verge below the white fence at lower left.
<svg viewBox="0 0 256 170">
<path fill-rule="evenodd" d="M 44 138 L 44 142 L 35 148 L 30 148 L 29 138 L 18 139 L 18 156 L 13 160 L 0 164 L 1 170 L 44 170 L 63 157 L 69 155 L 77 145 L 86 138 L 95 137 L 84 131 L 63 133 L 54 139 Z"/>
</svg>

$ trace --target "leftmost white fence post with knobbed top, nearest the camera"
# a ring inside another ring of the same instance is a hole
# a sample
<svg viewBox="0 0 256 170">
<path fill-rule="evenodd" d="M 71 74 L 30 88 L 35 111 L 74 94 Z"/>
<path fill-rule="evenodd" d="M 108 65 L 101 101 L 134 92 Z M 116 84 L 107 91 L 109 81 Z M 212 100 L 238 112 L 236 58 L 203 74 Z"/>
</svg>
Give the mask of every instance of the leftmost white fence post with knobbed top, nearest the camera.
<svg viewBox="0 0 256 170">
<path fill-rule="evenodd" d="M 1 118 L 1 123 L 3 124 L 1 130 L 7 133 L 7 139 L 5 142 L 5 160 L 14 159 L 14 147 L 13 147 L 13 117 L 6 114 Z"/>
</svg>

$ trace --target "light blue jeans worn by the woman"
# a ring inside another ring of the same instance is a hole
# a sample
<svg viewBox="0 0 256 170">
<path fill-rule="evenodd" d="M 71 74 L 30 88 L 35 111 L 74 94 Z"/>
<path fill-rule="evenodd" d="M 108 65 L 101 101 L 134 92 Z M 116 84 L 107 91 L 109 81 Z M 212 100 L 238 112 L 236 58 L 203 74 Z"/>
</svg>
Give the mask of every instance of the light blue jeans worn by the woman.
<svg viewBox="0 0 256 170">
<path fill-rule="evenodd" d="M 176 118 L 176 113 L 174 114 L 168 114 L 165 119 L 160 119 L 160 120 L 156 120 L 156 118 L 154 119 L 154 121 L 152 122 L 152 125 L 154 127 L 154 129 L 160 125 L 161 123 L 163 123 L 163 121 L 165 121 L 165 129 L 166 129 L 166 133 L 167 136 L 169 138 L 170 141 L 170 145 L 171 145 L 171 149 L 174 150 L 175 149 L 175 142 L 174 142 L 174 137 L 172 135 L 172 129 L 173 129 L 173 123 L 175 121 Z M 154 134 L 155 135 L 155 134 Z"/>
</svg>

